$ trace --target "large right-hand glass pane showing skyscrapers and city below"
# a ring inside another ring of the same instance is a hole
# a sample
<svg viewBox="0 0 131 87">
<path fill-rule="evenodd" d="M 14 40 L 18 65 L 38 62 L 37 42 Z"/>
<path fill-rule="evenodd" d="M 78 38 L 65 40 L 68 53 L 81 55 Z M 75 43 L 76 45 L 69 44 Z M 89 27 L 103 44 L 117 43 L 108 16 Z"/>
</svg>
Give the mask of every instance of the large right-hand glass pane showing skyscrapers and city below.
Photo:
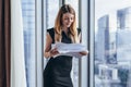
<svg viewBox="0 0 131 87">
<path fill-rule="evenodd" d="M 95 0 L 95 87 L 130 87 L 131 0 Z"/>
</svg>

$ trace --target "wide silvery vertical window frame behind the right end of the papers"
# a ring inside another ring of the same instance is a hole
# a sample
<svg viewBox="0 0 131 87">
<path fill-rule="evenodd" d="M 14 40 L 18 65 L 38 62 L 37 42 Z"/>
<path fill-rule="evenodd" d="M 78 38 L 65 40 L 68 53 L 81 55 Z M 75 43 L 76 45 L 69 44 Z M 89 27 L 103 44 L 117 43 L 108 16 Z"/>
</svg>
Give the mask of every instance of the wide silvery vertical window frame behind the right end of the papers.
<svg viewBox="0 0 131 87">
<path fill-rule="evenodd" d="M 82 29 L 82 44 L 86 46 L 87 50 L 91 53 L 91 47 L 90 47 L 90 29 L 91 29 L 91 24 L 90 24 L 90 0 L 81 0 L 80 1 L 80 27 Z M 86 38 L 85 38 L 86 37 Z M 86 40 L 85 40 L 86 39 Z M 82 59 L 80 59 L 80 80 L 79 80 L 79 87 L 90 87 L 91 84 L 91 79 L 90 79 L 90 60 L 91 54 L 83 57 Z"/>
</svg>

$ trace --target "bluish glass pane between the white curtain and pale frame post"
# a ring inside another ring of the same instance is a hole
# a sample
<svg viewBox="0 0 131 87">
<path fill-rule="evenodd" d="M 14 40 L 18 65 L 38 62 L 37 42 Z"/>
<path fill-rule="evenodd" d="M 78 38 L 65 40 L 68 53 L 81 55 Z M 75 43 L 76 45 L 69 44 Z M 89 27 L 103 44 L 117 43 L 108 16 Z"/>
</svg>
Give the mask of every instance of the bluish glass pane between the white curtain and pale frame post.
<svg viewBox="0 0 131 87">
<path fill-rule="evenodd" d="M 35 0 L 22 0 L 27 87 L 35 87 Z"/>
</svg>

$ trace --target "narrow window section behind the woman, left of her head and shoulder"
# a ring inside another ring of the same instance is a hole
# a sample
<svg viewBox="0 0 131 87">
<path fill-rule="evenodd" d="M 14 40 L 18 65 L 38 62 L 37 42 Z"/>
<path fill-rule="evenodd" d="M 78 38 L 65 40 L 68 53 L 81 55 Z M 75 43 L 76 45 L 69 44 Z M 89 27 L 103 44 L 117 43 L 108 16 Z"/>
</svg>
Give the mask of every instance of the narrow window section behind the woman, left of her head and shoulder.
<svg viewBox="0 0 131 87">
<path fill-rule="evenodd" d="M 44 46 L 46 45 L 46 32 L 48 28 L 51 28 L 55 26 L 55 20 L 59 10 L 59 1 L 53 0 L 53 4 L 51 0 L 47 0 L 44 2 Z M 53 14 L 53 16 L 52 16 Z M 45 49 L 45 48 L 44 48 Z M 46 66 L 46 63 L 48 62 L 48 59 L 44 59 L 44 67 Z"/>
</svg>

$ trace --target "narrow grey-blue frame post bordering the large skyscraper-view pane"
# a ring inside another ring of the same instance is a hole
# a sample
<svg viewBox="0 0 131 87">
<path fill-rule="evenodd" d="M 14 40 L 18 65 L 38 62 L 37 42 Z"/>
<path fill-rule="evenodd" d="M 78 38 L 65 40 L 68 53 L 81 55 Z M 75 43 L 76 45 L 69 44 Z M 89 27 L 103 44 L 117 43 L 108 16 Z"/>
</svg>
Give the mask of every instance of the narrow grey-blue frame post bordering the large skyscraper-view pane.
<svg viewBox="0 0 131 87">
<path fill-rule="evenodd" d="M 90 80 L 90 85 L 88 85 L 88 87 L 95 87 L 95 85 L 94 85 L 94 54 L 95 54 L 95 0 L 88 0 L 88 18 L 90 18 L 90 26 L 88 26 L 88 28 L 90 28 L 90 34 L 88 34 L 88 38 L 90 38 L 90 40 L 88 40 L 88 49 L 90 49 L 90 55 L 88 55 L 88 58 L 90 58 L 90 78 L 88 78 L 88 80 Z"/>
</svg>

